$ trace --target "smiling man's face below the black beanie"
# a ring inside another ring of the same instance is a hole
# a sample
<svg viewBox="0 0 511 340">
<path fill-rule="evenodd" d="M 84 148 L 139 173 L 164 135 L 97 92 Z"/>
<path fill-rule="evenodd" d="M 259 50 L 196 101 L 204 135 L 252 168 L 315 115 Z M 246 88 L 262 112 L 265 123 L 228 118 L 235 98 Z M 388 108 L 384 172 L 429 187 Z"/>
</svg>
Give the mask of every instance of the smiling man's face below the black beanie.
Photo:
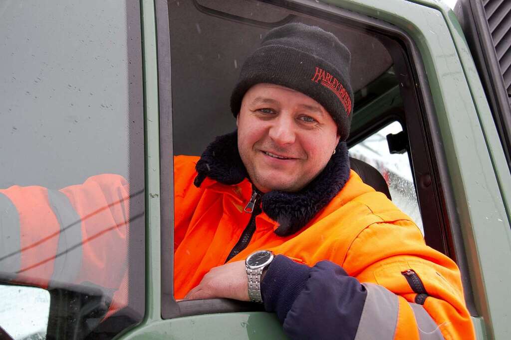
<svg viewBox="0 0 511 340">
<path fill-rule="evenodd" d="M 327 165 L 337 125 L 311 97 L 274 84 L 252 86 L 237 117 L 238 149 L 262 192 L 298 191 Z"/>
</svg>

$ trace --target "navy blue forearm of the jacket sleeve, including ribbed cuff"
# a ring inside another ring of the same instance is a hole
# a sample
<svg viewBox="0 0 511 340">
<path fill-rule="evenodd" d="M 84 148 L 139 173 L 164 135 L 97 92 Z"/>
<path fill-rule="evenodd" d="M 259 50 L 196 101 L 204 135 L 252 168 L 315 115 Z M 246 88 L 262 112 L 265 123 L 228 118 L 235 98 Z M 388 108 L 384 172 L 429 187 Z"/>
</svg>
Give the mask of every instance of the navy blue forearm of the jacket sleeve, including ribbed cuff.
<svg viewBox="0 0 511 340">
<path fill-rule="evenodd" d="M 293 339 L 354 339 L 367 292 L 340 266 L 321 261 L 310 268 L 283 255 L 268 267 L 261 293 Z"/>
</svg>

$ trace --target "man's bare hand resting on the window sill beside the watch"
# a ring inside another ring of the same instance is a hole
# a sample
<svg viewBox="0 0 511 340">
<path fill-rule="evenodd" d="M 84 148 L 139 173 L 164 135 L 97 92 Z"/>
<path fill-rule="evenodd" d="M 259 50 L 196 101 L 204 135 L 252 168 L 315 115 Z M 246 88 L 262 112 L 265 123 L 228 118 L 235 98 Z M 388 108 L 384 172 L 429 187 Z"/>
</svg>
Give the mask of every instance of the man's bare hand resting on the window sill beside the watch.
<svg viewBox="0 0 511 340">
<path fill-rule="evenodd" d="M 184 297 L 188 300 L 213 298 L 250 301 L 245 261 L 212 268 L 204 275 L 199 285 Z"/>
</svg>

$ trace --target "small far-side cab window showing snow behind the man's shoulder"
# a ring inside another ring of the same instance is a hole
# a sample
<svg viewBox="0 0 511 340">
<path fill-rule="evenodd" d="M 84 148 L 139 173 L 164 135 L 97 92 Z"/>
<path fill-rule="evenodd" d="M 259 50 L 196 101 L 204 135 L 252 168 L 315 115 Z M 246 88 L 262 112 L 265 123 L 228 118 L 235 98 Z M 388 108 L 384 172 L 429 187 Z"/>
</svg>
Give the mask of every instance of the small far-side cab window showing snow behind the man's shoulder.
<svg viewBox="0 0 511 340">
<path fill-rule="evenodd" d="M 399 122 L 393 122 L 352 146 L 350 156 L 380 171 L 387 182 L 392 202 L 410 216 L 424 234 L 408 152 L 391 154 L 387 144 L 387 135 L 395 135 L 402 130 Z"/>
</svg>

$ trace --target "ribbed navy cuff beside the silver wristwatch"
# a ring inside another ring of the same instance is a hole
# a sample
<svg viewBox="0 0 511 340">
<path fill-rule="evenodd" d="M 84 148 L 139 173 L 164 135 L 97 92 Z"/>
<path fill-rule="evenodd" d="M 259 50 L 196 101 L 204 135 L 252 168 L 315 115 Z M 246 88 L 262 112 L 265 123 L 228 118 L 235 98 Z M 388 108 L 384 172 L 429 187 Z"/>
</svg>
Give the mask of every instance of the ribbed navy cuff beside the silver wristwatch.
<svg viewBox="0 0 511 340">
<path fill-rule="evenodd" d="M 277 255 L 268 266 L 261 282 L 266 311 L 274 311 L 282 323 L 294 301 L 304 290 L 311 268 L 300 265 L 284 255 Z"/>
</svg>

